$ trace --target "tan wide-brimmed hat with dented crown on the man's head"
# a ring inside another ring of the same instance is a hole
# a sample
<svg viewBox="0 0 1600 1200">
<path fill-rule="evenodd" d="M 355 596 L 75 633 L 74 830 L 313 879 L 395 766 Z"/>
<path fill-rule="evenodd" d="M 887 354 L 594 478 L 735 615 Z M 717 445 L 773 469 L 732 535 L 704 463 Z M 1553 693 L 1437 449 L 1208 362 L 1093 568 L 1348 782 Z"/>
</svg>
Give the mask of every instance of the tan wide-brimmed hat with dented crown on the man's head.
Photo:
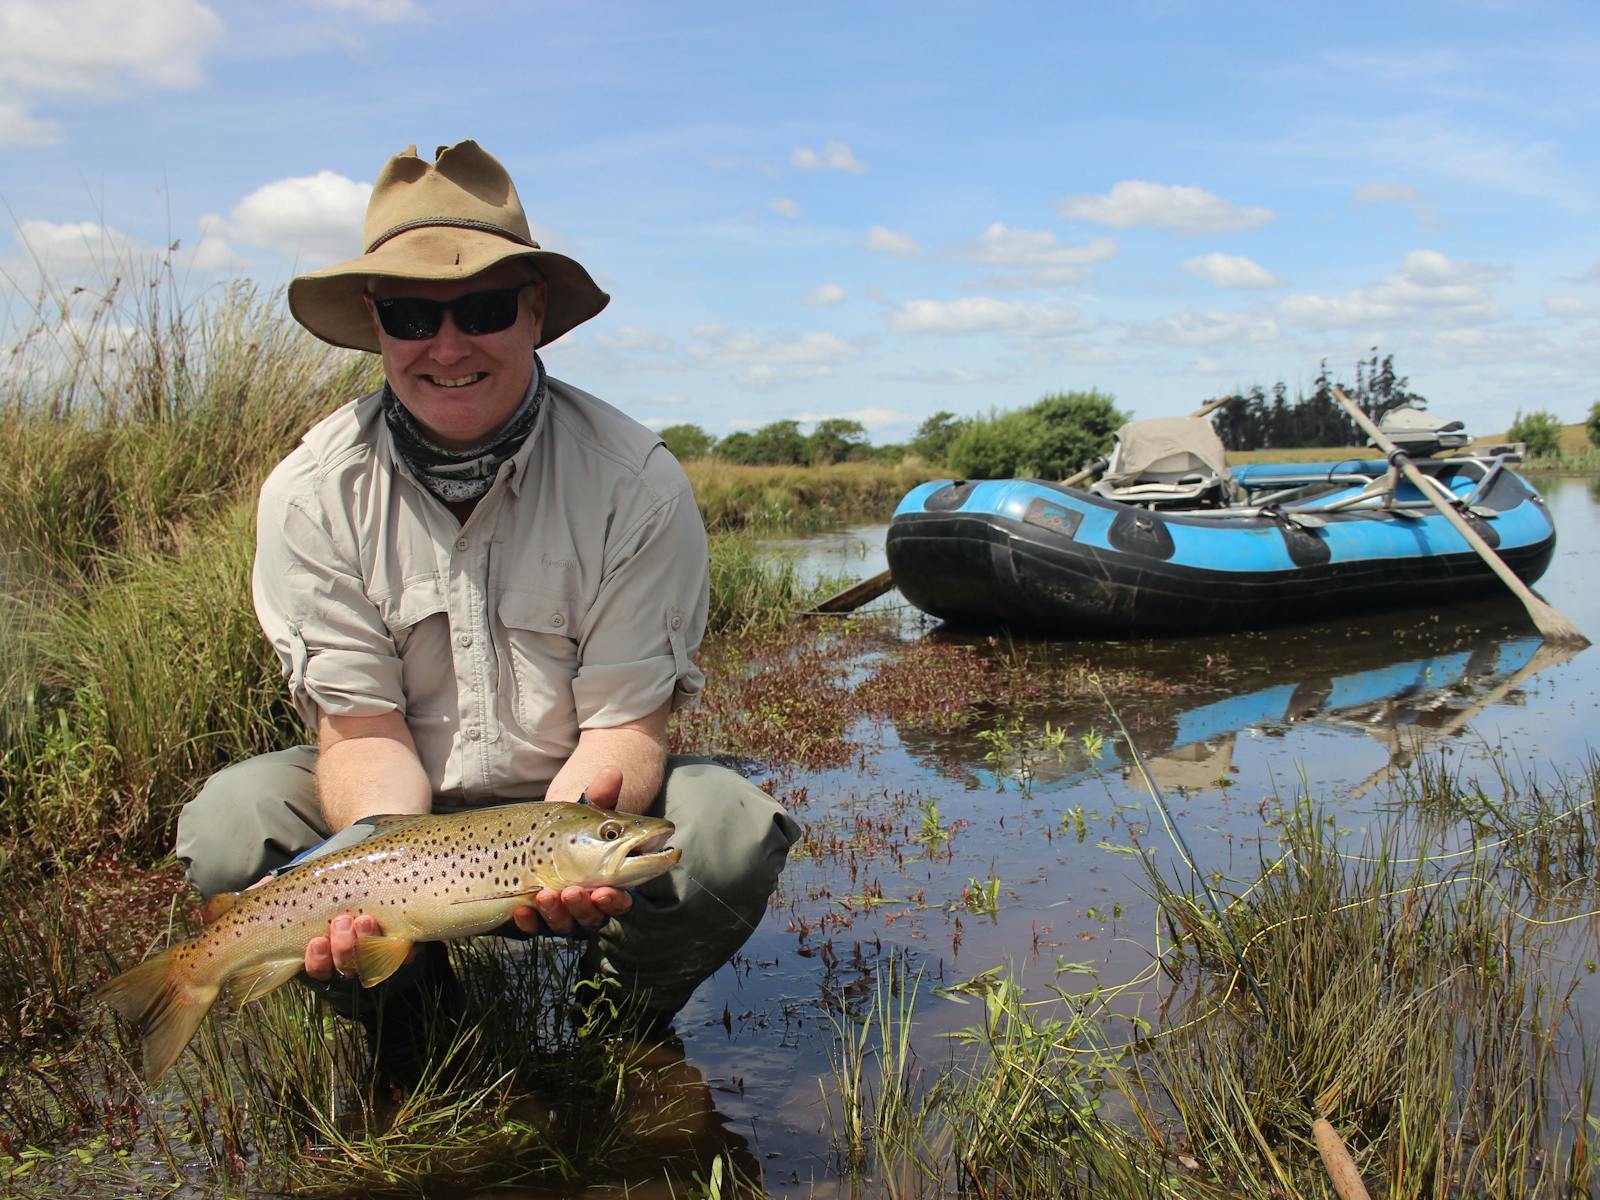
<svg viewBox="0 0 1600 1200">
<path fill-rule="evenodd" d="M 432 163 L 410 146 L 378 174 L 362 230 L 366 253 L 290 283 L 294 320 L 334 346 L 378 354 L 362 293 L 371 278 L 462 280 L 528 259 L 549 285 L 539 346 L 582 325 L 611 298 L 566 254 L 541 250 L 510 176 L 477 142 L 442 146 Z"/>
</svg>

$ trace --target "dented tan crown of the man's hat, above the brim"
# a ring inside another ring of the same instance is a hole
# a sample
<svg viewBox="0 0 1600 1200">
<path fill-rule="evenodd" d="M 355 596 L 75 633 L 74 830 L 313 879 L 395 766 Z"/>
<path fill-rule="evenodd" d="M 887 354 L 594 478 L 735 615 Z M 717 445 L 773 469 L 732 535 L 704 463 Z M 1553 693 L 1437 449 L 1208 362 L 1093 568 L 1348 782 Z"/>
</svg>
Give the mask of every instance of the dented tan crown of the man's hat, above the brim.
<svg viewBox="0 0 1600 1200">
<path fill-rule="evenodd" d="M 397 234 L 427 226 L 482 229 L 539 245 L 506 168 L 475 141 L 440 146 L 432 163 L 408 146 L 378 173 L 362 229 L 366 253 Z"/>
</svg>

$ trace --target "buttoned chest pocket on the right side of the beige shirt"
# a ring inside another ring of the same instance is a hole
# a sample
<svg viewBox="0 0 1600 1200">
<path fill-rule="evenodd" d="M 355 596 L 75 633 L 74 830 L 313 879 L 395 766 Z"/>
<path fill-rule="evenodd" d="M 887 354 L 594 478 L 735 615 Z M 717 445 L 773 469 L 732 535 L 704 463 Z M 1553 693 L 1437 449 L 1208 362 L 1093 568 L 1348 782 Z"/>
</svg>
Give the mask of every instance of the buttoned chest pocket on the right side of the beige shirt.
<svg viewBox="0 0 1600 1200">
<path fill-rule="evenodd" d="M 517 589 L 499 600 L 501 686 L 517 723 L 536 744 L 578 736 L 573 678 L 578 675 L 578 608 L 566 592 Z"/>
</svg>

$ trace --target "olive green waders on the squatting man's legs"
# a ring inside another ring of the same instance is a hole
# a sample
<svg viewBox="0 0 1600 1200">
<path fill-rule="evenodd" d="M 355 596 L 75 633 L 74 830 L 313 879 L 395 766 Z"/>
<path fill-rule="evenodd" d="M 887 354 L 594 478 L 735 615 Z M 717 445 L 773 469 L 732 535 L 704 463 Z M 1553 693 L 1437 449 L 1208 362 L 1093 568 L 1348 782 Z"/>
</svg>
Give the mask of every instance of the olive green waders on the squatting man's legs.
<svg viewBox="0 0 1600 1200">
<path fill-rule="evenodd" d="M 264 754 L 218 771 L 184 805 L 176 851 L 202 896 L 246 888 L 328 840 L 315 766 L 309 746 Z M 667 760 L 648 811 L 677 826 L 672 845 L 683 858 L 634 888 L 634 907 L 595 931 L 584 966 L 669 1016 L 755 931 L 800 826 L 738 773 L 686 755 Z M 326 850 L 354 845 L 363 829 L 352 826 Z"/>
</svg>

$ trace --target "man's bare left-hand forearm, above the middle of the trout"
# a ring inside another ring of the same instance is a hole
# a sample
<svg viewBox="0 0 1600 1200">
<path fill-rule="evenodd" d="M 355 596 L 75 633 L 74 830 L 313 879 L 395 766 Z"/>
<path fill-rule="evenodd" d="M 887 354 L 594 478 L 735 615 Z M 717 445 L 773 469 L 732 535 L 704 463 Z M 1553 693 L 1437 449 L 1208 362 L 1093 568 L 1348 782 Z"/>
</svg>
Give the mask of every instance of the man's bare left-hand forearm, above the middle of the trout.
<svg viewBox="0 0 1600 1200">
<path fill-rule="evenodd" d="M 398 712 L 322 717 L 317 795 L 333 832 L 378 813 L 427 813 L 434 790 Z"/>
</svg>

